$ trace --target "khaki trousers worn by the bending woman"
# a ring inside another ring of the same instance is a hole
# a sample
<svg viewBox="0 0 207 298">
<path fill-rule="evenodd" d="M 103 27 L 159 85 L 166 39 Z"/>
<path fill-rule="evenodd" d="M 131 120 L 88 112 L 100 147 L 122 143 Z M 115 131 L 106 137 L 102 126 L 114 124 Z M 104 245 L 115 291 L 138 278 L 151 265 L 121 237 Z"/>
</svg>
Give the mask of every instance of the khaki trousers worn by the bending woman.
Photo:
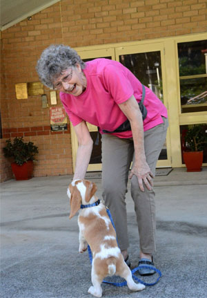
<svg viewBox="0 0 207 298">
<path fill-rule="evenodd" d="M 163 124 L 144 132 L 146 160 L 154 176 L 168 128 L 168 119 L 163 120 Z M 102 135 L 103 201 L 112 214 L 121 250 L 126 250 L 129 246 L 125 198 L 128 171 L 133 159 L 132 138 L 121 139 L 110 134 Z M 132 176 L 131 196 L 135 203 L 140 249 L 146 254 L 152 254 L 155 252 L 155 192 L 153 189 L 149 191 L 145 186 L 144 189 L 145 191 L 141 192 L 137 177 Z"/>
</svg>

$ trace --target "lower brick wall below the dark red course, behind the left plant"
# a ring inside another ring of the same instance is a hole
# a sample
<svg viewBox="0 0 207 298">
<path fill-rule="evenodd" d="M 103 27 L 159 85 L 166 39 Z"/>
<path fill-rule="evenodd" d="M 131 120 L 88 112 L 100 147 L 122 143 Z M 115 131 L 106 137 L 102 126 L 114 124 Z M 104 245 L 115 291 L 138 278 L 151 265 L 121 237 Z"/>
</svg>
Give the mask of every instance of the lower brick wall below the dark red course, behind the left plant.
<svg viewBox="0 0 207 298">
<path fill-rule="evenodd" d="M 23 140 L 26 142 L 34 142 L 39 149 L 39 154 L 37 154 L 37 161 L 34 162 L 34 173 L 33 175 L 38 176 L 58 176 L 72 174 L 72 153 L 71 153 L 71 142 L 67 133 L 51 133 L 45 134 L 45 131 L 41 131 L 39 127 L 37 131 L 32 131 L 37 133 L 37 136 L 25 137 Z M 6 129 L 7 134 L 11 136 L 22 136 L 28 134 L 28 131 L 23 133 L 14 132 L 14 129 Z M 10 130 L 10 133 L 8 132 Z M 47 132 L 47 131 L 46 131 Z M 42 133 L 42 134 L 39 134 Z M 1 140 L 1 151 L 6 145 L 6 139 Z M 70 166 L 68 166 L 70 165 Z M 1 182 L 6 181 L 13 177 L 10 160 L 7 160 L 1 154 L 0 158 L 1 166 Z"/>
</svg>

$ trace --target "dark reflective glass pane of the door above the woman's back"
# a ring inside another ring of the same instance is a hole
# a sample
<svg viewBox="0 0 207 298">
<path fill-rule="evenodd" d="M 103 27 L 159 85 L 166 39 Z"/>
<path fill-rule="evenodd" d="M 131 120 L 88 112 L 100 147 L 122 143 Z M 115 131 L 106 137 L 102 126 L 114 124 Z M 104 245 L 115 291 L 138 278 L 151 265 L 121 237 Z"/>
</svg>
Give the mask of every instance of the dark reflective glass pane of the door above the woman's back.
<svg viewBox="0 0 207 298">
<path fill-rule="evenodd" d="M 126 66 L 137 79 L 148 86 L 163 102 L 160 52 L 137 53 L 119 56 L 121 64 Z"/>
</svg>

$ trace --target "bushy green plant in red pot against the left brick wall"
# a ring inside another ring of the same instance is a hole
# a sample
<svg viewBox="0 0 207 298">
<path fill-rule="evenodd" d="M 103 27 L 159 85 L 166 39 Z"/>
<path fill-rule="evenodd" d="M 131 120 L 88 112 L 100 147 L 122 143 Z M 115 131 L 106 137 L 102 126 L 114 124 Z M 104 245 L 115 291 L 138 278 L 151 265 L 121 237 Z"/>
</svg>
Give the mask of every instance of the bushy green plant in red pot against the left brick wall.
<svg viewBox="0 0 207 298">
<path fill-rule="evenodd" d="M 16 180 L 28 180 L 32 178 L 34 169 L 34 156 L 38 153 L 38 147 L 33 142 L 24 142 L 23 137 L 6 140 L 3 153 L 6 158 L 11 158 L 12 172 Z"/>
</svg>

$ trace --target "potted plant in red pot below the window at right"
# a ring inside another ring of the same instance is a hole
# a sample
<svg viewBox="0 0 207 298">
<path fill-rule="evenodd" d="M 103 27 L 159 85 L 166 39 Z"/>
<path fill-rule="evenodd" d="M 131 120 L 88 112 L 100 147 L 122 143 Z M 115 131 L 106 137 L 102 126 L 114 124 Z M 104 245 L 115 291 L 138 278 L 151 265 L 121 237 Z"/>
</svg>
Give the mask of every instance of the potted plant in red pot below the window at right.
<svg viewBox="0 0 207 298">
<path fill-rule="evenodd" d="M 206 129 L 206 124 L 191 125 L 184 135 L 183 157 L 187 171 L 201 171 L 204 148 L 207 146 Z"/>
</svg>

